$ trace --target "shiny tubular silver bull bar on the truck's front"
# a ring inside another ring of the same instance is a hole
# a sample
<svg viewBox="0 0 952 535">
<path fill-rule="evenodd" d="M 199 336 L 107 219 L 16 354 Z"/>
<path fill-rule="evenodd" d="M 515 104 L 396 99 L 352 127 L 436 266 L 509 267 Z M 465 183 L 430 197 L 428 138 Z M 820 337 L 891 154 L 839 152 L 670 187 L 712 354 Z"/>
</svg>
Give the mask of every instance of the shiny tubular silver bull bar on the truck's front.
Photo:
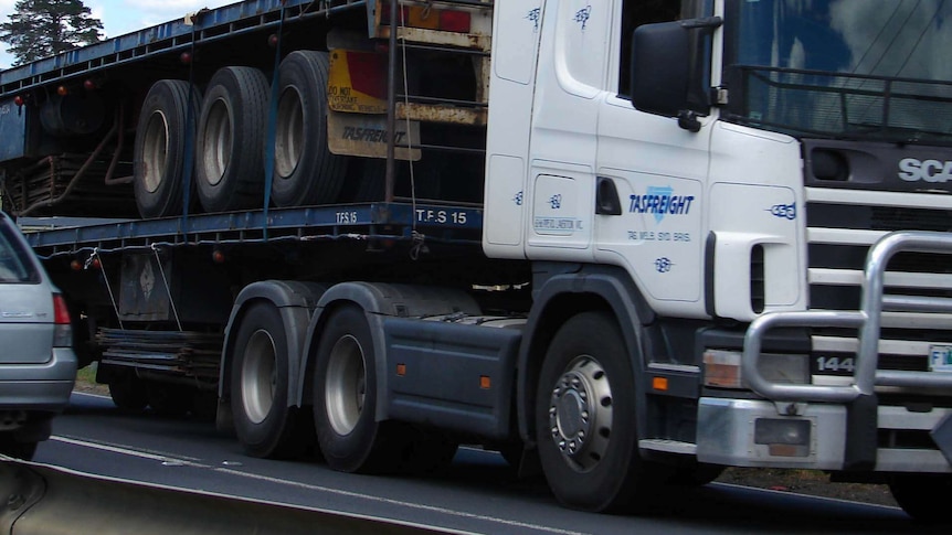
<svg viewBox="0 0 952 535">
<path fill-rule="evenodd" d="M 895 232 L 882 236 L 866 257 L 863 295 L 858 311 L 804 311 L 766 313 L 748 328 L 741 373 L 748 386 L 778 402 L 849 403 L 870 396 L 880 386 L 952 388 L 952 374 L 933 372 L 877 371 L 882 311 L 952 312 L 952 299 L 885 293 L 886 268 L 900 252 L 952 255 L 952 234 Z M 761 344 L 768 331 L 781 327 L 831 327 L 859 330 L 859 347 L 853 384 L 848 386 L 791 385 L 771 383 L 758 371 Z M 950 325 L 952 327 L 952 325 Z"/>
</svg>

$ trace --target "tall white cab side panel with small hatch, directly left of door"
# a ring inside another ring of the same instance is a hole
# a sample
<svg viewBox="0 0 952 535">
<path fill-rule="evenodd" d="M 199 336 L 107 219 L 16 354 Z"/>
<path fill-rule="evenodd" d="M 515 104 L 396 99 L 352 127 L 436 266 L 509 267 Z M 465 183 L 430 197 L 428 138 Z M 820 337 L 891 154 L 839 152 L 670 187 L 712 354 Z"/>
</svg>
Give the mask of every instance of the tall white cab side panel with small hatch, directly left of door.
<svg viewBox="0 0 952 535">
<path fill-rule="evenodd" d="M 613 1 L 544 3 L 527 184 L 533 259 L 592 260 L 596 128 Z"/>
</svg>

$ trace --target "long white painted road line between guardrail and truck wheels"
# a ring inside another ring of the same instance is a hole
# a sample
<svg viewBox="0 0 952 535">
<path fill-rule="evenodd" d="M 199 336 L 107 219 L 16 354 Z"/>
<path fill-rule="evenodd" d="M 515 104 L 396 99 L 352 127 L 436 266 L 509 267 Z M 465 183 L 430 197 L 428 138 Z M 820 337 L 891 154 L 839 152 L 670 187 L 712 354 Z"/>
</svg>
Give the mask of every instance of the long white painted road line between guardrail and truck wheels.
<svg viewBox="0 0 952 535">
<path fill-rule="evenodd" d="M 440 513 L 440 514 L 445 514 L 448 516 L 456 516 L 456 517 L 461 517 L 461 518 L 493 522 L 493 523 L 504 524 L 507 526 L 518 527 L 518 528 L 522 528 L 522 529 L 533 529 L 533 531 L 538 531 L 538 532 L 553 533 L 553 534 L 559 534 L 559 535 L 584 535 L 583 532 L 572 532 L 572 531 L 568 531 L 568 529 L 560 529 L 557 527 L 541 526 L 538 524 L 530 524 L 527 522 L 518 522 L 518 521 L 511 521 L 511 520 L 506 520 L 506 518 L 497 518 L 495 516 L 467 513 L 465 511 L 455 511 L 455 510 L 445 509 L 445 507 L 437 507 L 435 505 L 425 505 L 425 504 L 420 504 L 420 503 L 405 502 L 402 500 L 393 500 L 393 499 L 389 499 L 389 497 L 372 496 L 372 495 L 362 494 L 359 492 L 351 492 L 351 491 L 343 491 L 340 489 L 334 489 L 330 486 L 313 485 L 309 483 L 302 483 L 298 481 L 288 481 L 288 480 L 283 480 L 283 479 L 278 479 L 278 478 L 272 478 L 268 475 L 260 475 L 260 474 L 255 474 L 255 473 L 242 472 L 240 470 L 234 470 L 232 468 L 221 468 L 221 467 L 214 467 L 214 466 L 210 466 L 210 464 L 205 464 L 205 463 L 195 462 L 198 459 L 194 459 L 194 458 L 189 459 L 189 458 L 182 458 L 182 457 L 176 457 L 176 456 L 161 454 L 158 452 L 140 451 L 140 450 L 135 450 L 135 449 L 130 449 L 130 448 L 126 448 L 126 447 L 121 447 L 121 446 L 106 445 L 106 443 L 99 443 L 99 442 L 91 442 L 91 441 L 86 441 L 86 440 L 78 440 L 75 438 L 68 438 L 68 437 L 62 437 L 62 436 L 50 437 L 50 440 L 55 440 L 59 442 L 64 442 L 64 443 L 73 445 L 73 446 L 80 446 L 80 447 L 84 447 L 84 448 L 109 451 L 112 453 L 120 453 L 120 454 L 130 456 L 130 457 L 138 457 L 141 459 L 149 459 L 149 460 L 159 461 L 159 462 L 170 462 L 170 461 L 171 462 L 181 462 L 183 466 L 187 466 L 190 468 L 202 468 L 202 469 L 207 469 L 207 470 L 213 470 L 215 472 L 222 472 L 222 473 L 228 473 L 231 475 L 237 475 L 241 478 L 254 479 L 254 480 L 258 480 L 258 481 L 267 481 L 269 483 L 277 483 L 277 484 L 283 484 L 283 485 L 288 485 L 288 486 L 296 486 L 298 489 L 305 489 L 305 490 L 309 490 L 309 491 L 327 492 L 330 494 L 337 494 L 337 495 L 346 496 L 346 497 L 356 497 L 359 500 L 368 500 L 368 501 L 372 501 L 372 502 L 385 503 L 388 505 L 399 505 L 402 507 L 415 509 L 415 510 L 420 510 L 420 511 L 429 511 L 432 513 Z M 247 499 L 246 496 L 234 496 L 234 497 Z"/>
</svg>

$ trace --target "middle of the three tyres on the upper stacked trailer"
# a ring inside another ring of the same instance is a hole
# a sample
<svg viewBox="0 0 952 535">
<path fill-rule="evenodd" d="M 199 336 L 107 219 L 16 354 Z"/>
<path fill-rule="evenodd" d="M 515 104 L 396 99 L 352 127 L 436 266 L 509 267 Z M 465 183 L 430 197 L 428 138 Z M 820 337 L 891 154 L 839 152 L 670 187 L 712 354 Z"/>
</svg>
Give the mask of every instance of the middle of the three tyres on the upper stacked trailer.
<svg viewBox="0 0 952 535">
<path fill-rule="evenodd" d="M 267 78 L 252 67 L 220 68 L 202 100 L 195 182 L 207 212 L 261 207 Z"/>
</svg>

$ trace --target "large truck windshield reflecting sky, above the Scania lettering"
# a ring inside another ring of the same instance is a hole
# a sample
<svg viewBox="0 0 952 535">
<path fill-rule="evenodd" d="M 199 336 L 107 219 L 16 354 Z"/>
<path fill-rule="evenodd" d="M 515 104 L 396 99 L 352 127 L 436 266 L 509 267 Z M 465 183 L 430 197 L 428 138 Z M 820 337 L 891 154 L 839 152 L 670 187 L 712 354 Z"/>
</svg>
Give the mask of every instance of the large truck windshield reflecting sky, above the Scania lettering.
<svg viewBox="0 0 952 535">
<path fill-rule="evenodd" d="M 952 1 L 728 3 L 728 120 L 794 136 L 952 145 Z"/>
</svg>

